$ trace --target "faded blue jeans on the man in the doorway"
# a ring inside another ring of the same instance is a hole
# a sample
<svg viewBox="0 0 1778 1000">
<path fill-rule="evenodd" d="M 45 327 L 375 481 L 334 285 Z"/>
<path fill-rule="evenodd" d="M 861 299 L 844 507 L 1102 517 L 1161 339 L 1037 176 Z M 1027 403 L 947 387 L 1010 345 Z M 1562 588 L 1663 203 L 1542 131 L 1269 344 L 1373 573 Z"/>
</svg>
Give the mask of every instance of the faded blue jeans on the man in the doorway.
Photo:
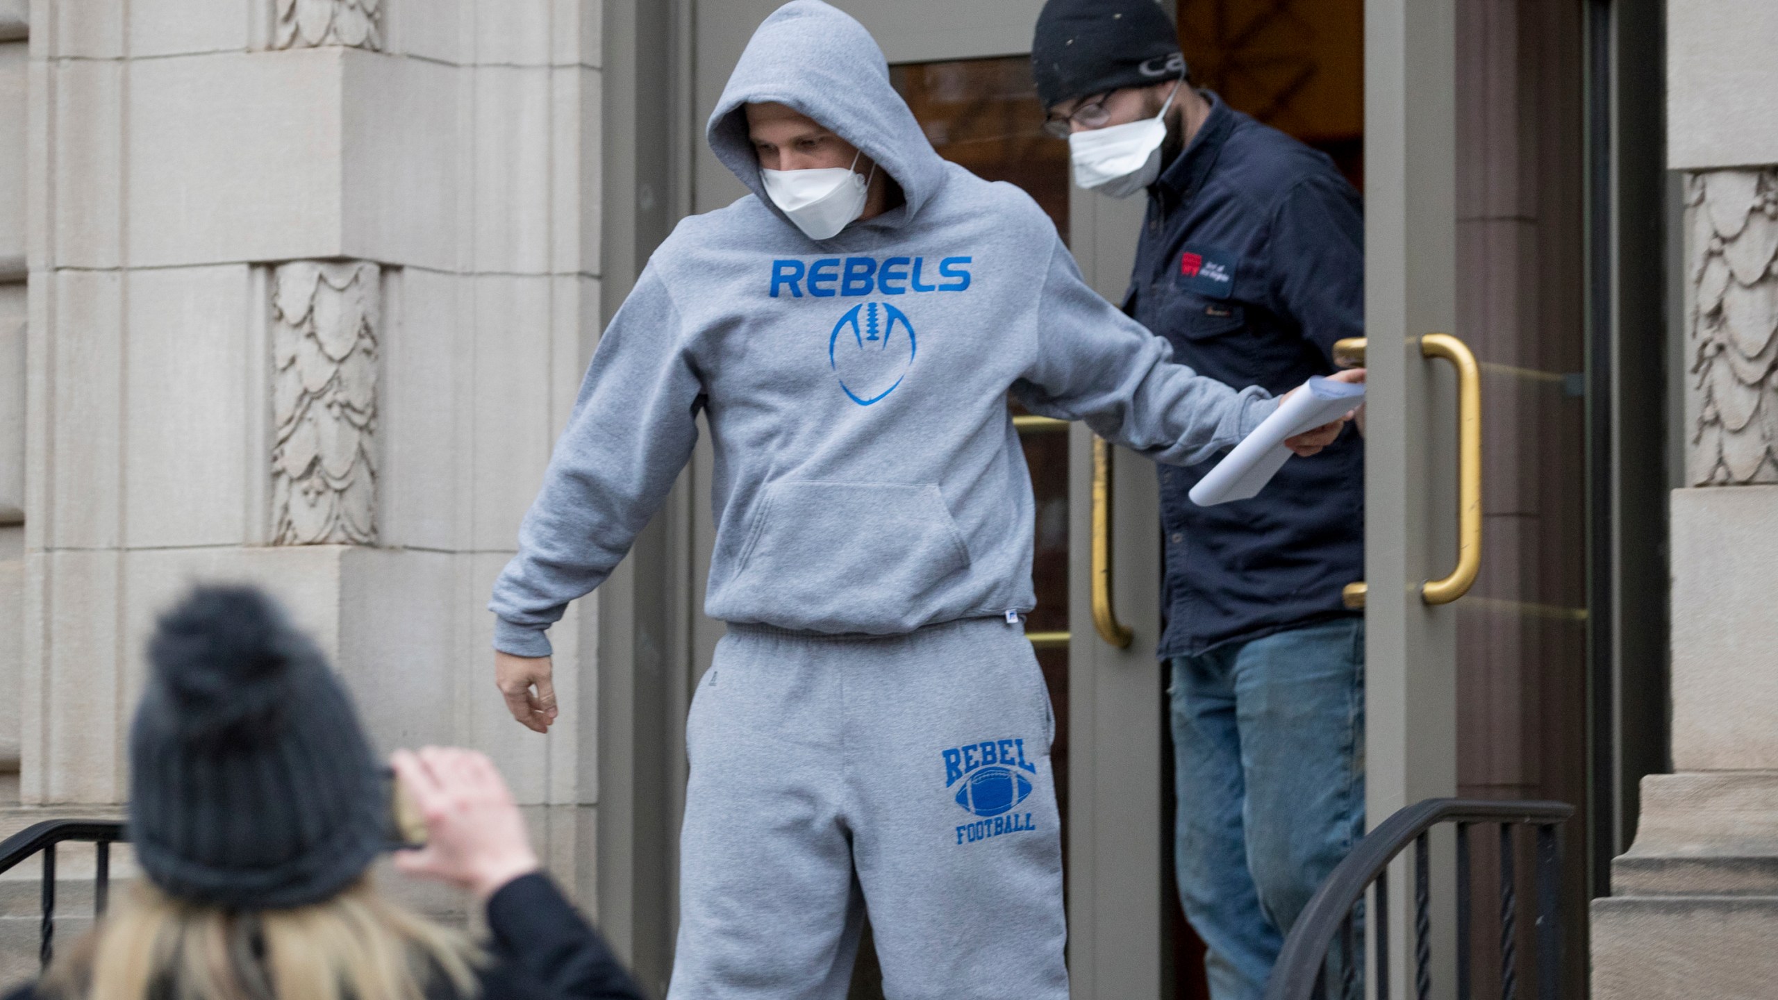
<svg viewBox="0 0 1778 1000">
<path fill-rule="evenodd" d="M 1214 1000 L 1255 1000 L 1364 835 L 1364 619 L 1173 657 L 1179 900 Z"/>
</svg>

